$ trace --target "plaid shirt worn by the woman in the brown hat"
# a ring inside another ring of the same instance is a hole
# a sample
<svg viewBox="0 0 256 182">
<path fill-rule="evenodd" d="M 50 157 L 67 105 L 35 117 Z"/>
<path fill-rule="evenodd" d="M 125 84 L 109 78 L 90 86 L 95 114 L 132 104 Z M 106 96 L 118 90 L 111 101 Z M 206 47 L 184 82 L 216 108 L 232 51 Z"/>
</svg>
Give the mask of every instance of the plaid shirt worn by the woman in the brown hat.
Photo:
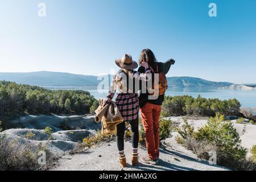
<svg viewBox="0 0 256 182">
<path fill-rule="evenodd" d="M 133 77 L 137 80 L 148 81 L 151 78 L 151 74 L 150 74 L 151 70 L 148 68 L 145 69 L 145 73 L 140 73 L 137 71 L 133 71 L 132 73 L 133 73 Z M 124 121 L 132 121 L 134 119 L 137 119 L 138 117 L 139 98 L 138 98 L 138 93 L 132 93 L 131 90 L 129 90 L 127 93 L 126 79 L 121 79 L 122 81 L 120 82 L 120 85 L 117 84 L 116 80 L 118 78 L 123 78 L 123 76 L 126 77 L 126 74 L 121 72 L 121 73 L 117 73 L 113 77 L 113 81 L 110 86 L 110 90 L 107 98 L 108 98 L 108 101 L 112 100 L 118 87 L 119 92 L 117 93 L 117 97 L 115 98 L 115 104 L 117 104 L 117 107 Z M 121 85 L 124 88 L 120 88 L 122 87 Z"/>
</svg>

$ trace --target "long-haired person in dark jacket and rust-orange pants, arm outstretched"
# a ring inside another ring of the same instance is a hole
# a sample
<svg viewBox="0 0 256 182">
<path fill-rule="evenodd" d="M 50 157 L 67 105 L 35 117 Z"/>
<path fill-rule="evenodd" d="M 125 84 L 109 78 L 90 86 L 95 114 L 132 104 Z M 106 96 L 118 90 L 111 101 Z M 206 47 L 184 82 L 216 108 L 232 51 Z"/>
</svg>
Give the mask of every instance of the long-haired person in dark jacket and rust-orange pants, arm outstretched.
<svg viewBox="0 0 256 182">
<path fill-rule="evenodd" d="M 166 63 L 156 62 L 155 55 L 150 49 L 143 49 L 139 63 L 146 61 L 148 67 L 151 67 L 151 72 L 154 77 L 155 73 L 161 73 L 166 75 L 169 71 L 171 64 L 174 64 L 174 60 L 168 60 Z M 144 72 L 143 67 L 139 67 L 138 72 Z M 159 74 L 160 75 L 160 74 Z M 160 81 L 160 79 L 159 79 Z M 141 84 L 141 89 L 143 86 Z M 148 88 L 147 88 L 148 89 Z M 147 91 L 146 89 L 146 91 Z M 157 88 L 159 89 L 159 87 Z M 164 101 L 164 94 L 160 94 L 157 98 L 149 99 L 149 93 L 141 93 L 139 96 L 139 106 L 141 107 L 141 118 L 146 133 L 146 146 L 148 156 L 142 158 L 142 162 L 149 164 L 157 164 L 159 161 L 159 118 L 162 110 L 162 103 Z"/>
</svg>

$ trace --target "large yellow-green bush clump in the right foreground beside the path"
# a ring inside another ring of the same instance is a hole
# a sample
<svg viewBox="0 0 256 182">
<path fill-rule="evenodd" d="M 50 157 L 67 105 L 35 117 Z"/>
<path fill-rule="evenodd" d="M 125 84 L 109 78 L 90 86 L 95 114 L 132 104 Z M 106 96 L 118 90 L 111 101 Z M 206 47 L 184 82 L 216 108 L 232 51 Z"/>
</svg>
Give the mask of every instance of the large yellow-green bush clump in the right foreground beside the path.
<svg viewBox="0 0 256 182">
<path fill-rule="evenodd" d="M 243 166 L 243 169 L 247 169 L 245 165 L 248 163 L 246 149 L 241 147 L 240 136 L 232 123 L 225 122 L 224 118 L 224 115 L 217 113 L 216 117 L 211 117 L 207 124 L 197 131 L 194 131 L 193 127 L 189 126 L 184 119 L 184 125 L 181 129 L 177 129 L 180 138 L 176 138 L 176 140 L 196 154 L 202 155 L 204 152 L 201 151 L 216 148 L 217 163 L 219 165 L 232 169 L 241 169 L 241 166 Z M 207 143 L 209 146 L 205 145 Z M 204 147 L 208 149 L 204 150 Z M 254 167 L 253 163 L 250 165 L 250 168 Z"/>
</svg>

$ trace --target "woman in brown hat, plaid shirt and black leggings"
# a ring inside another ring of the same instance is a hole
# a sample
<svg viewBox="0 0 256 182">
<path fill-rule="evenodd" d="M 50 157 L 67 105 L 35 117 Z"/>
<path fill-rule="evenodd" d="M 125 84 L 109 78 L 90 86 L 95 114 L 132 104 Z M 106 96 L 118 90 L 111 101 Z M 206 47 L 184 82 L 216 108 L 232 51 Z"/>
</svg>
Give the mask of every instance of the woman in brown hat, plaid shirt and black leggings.
<svg viewBox="0 0 256 182">
<path fill-rule="evenodd" d="M 138 93 L 134 89 L 139 87 L 135 85 L 136 80 L 147 81 L 150 80 L 150 69 L 148 69 L 148 64 L 146 62 L 141 63 L 142 67 L 145 68 L 144 73 L 139 73 L 134 71 L 138 67 L 138 64 L 133 61 L 131 55 L 123 55 L 121 59 L 115 60 L 115 64 L 121 68 L 116 75 L 113 77 L 112 84 L 110 86 L 109 94 L 107 96 L 107 101 L 112 100 L 116 89 L 118 88 L 117 97 L 115 98 L 115 103 L 124 119 L 124 121 L 129 122 L 131 126 L 131 143 L 133 152 L 131 155 L 131 162 L 133 166 L 138 164 L 138 142 L 139 142 L 139 98 Z M 138 82 L 137 82 L 138 83 Z M 117 148 L 119 153 L 119 163 L 122 167 L 126 167 L 126 156 L 124 151 L 124 135 L 125 135 L 125 122 L 119 123 L 117 125 Z"/>
</svg>

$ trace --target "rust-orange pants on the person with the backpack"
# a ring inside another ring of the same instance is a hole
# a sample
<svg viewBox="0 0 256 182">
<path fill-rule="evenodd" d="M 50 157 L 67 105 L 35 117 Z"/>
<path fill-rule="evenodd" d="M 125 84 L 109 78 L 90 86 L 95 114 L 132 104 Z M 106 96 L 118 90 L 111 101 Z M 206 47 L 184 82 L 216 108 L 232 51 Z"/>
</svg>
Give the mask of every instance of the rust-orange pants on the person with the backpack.
<svg viewBox="0 0 256 182">
<path fill-rule="evenodd" d="M 161 109 L 161 105 L 149 102 L 140 109 L 146 134 L 147 154 L 153 160 L 159 158 L 159 118 Z"/>
</svg>

